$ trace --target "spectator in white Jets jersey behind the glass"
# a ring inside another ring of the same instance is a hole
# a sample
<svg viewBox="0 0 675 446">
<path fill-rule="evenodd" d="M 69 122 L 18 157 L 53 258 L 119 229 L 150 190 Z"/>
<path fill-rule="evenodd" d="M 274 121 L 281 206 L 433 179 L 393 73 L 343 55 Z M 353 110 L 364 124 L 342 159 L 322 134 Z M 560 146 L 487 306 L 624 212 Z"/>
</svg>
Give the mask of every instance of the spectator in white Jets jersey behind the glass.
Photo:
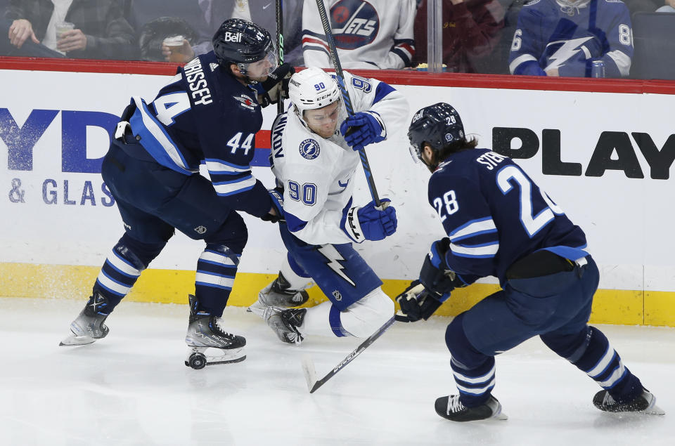
<svg viewBox="0 0 675 446">
<path fill-rule="evenodd" d="M 415 55 L 416 0 L 324 0 L 343 68 L 409 67 Z M 315 0 L 304 0 L 302 54 L 307 67 L 330 68 Z"/>
</svg>

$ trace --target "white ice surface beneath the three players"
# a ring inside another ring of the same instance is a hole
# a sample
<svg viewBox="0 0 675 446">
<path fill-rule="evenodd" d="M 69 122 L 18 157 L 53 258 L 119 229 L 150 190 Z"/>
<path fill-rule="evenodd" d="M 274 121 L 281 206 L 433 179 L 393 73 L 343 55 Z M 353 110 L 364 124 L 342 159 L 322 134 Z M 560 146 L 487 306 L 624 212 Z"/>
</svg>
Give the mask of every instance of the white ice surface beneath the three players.
<svg viewBox="0 0 675 446">
<path fill-rule="evenodd" d="M 123 302 L 110 334 L 59 347 L 84 301 L 0 299 L 0 445 L 674 445 L 675 329 L 599 326 L 666 415 L 606 414 L 596 383 L 539 339 L 497 358 L 508 421 L 454 424 L 437 397 L 456 393 L 446 318 L 394 324 L 310 395 L 300 360 L 319 376 L 359 344 L 282 344 L 242 308 L 228 329 L 248 358 L 184 365 L 188 307 Z"/>
</svg>

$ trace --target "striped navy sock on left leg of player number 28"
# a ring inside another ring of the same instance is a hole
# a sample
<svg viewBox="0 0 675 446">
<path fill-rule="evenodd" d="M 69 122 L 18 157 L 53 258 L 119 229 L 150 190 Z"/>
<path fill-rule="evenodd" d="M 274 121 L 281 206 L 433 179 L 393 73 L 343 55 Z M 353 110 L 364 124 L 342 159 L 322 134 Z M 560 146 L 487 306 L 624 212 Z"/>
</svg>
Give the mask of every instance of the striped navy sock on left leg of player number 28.
<svg viewBox="0 0 675 446">
<path fill-rule="evenodd" d="M 495 383 L 494 356 L 487 356 L 473 348 L 462 326 L 463 313 L 455 317 L 445 332 L 445 343 L 450 350 L 450 367 L 459 391 L 459 400 L 465 407 L 484 405 L 490 398 Z"/>
</svg>

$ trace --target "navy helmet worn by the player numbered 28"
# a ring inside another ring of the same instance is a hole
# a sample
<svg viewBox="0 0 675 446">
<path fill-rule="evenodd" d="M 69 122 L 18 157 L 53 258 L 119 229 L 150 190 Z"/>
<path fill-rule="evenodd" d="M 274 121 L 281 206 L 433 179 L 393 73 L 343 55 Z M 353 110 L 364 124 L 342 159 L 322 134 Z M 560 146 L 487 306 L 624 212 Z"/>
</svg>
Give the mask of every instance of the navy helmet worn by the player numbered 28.
<svg viewBox="0 0 675 446">
<path fill-rule="evenodd" d="M 422 150 L 427 143 L 437 151 L 444 146 L 464 139 L 464 126 L 459 113 L 447 103 L 424 107 L 413 116 L 408 129 L 410 151 L 417 162 L 422 160 Z"/>
</svg>

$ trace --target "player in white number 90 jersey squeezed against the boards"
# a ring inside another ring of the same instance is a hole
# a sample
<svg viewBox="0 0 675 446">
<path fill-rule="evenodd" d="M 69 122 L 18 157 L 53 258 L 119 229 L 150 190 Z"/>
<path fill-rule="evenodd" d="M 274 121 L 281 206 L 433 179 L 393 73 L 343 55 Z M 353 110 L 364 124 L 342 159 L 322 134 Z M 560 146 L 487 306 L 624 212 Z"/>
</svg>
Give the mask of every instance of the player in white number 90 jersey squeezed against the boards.
<svg viewBox="0 0 675 446">
<path fill-rule="evenodd" d="M 310 334 L 367 337 L 394 315 L 392 299 L 352 243 L 392 235 L 396 211 L 388 199 L 384 209 L 355 204 L 352 192 L 360 164 L 356 150 L 401 128 L 409 107 L 401 93 L 376 79 L 345 72 L 345 86 L 352 117 L 333 77 L 316 67 L 296 73 L 289 84 L 293 105 L 272 126 L 271 166 L 283 188 L 279 231 L 288 256 L 251 310 L 287 343 Z M 313 282 L 328 302 L 282 308 L 307 301 L 304 289 Z"/>
</svg>

